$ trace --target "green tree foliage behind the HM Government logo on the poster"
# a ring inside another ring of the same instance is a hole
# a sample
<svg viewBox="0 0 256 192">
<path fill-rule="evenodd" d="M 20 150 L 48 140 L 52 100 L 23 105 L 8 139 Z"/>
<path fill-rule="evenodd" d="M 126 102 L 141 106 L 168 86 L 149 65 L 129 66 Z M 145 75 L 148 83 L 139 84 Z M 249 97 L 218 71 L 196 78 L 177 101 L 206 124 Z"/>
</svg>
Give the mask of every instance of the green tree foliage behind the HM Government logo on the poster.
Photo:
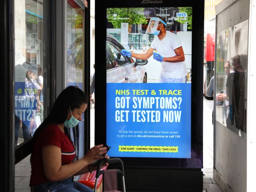
<svg viewBox="0 0 256 192">
<path fill-rule="evenodd" d="M 121 23 L 129 23 L 129 29 L 132 24 L 147 24 L 148 20 L 143 11 L 144 8 L 109 8 L 108 22 L 112 23 L 114 28 L 121 28 Z"/>
</svg>

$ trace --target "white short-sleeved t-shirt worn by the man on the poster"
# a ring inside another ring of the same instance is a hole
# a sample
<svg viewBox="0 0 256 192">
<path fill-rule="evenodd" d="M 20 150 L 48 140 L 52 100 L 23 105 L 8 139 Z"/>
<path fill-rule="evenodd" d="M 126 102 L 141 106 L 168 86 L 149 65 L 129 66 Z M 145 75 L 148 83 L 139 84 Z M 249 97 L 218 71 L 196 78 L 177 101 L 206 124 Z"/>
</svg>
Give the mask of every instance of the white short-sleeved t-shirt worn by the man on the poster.
<svg viewBox="0 0 256 192">
<path fill-rule="evenodd" d="M 161 41 L 158 36 L 154 36 L 151 43 L 151 48 L 156 49 L 157 53 L 162 57 L 170 58 L 176 56 L 174 49 L 181 47 L 182 43 L 180 37 L 169 31 L 166 31 L 166 36 Z M 162 62 L 161 75 L 165 78 L 181 79 L 187 75 L 186 63 L 183 62 Z"/>
</svg>

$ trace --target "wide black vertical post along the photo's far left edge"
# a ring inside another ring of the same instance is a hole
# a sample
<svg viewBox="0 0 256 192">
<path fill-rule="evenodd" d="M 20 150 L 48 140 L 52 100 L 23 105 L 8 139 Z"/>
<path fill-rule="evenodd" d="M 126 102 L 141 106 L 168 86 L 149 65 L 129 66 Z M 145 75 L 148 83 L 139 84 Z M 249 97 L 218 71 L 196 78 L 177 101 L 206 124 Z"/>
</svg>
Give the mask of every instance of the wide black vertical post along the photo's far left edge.
<svg viewBox="0 0 256 192">
<path fill-rule="evenodd" d="M 0 1 L 0 186 L 14 191 L 14 1 Z"/>
</svg>

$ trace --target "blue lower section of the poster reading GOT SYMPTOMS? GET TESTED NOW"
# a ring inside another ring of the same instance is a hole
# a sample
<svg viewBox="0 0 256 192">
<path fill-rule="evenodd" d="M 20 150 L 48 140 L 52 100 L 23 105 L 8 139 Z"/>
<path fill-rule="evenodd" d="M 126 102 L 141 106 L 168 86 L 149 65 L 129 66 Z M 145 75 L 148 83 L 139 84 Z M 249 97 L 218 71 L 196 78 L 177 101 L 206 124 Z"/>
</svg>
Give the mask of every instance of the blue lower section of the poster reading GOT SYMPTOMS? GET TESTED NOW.
<svg viewBox="0 0 256 192">
<path fill-rule="evenodd" d="M 191 84 L 107 83 L 109 156 L 191 157 Z"/>
</svg>

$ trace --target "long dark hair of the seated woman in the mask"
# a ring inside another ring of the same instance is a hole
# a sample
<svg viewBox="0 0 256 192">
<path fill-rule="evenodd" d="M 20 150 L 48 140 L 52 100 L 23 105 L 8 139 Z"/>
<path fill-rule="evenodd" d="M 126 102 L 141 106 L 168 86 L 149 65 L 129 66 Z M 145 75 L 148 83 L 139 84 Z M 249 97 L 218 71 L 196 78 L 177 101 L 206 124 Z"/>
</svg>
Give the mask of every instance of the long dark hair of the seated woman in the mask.
<svg viewBox="0 0 256 192">
<path fill-rule="evenodd" d="M 63 90 L 61 94 L 59 94 L 59 96 L 56 98 L 48 117 L 46 117 L 46 119 L 35 131 L 33 135 L 33 145 L 35 144 L 37 138 L 39 137 L 40 133 L 43 131 L 44 128 L 46 128 L 49 125 L 61 124 L 65 122 L 65 120 L 67 119 L 67 111 L 69 110 L 69 107 L 71 110 L 73 110 L 76 108 L 80 108 L 82 104 L 87 103 L 87 95 L 77 86 L 69 86 L 65 90 Z M 64 130 L 65 134 L 67 134 L 69 139 L 71 139 L 70 134 L 67 131 L 67 128 L 64 128 Z M 74 134 L 74 139 L 76 140 L 75 137 L 76 136 Z M 75 141 L 75 143 L 78 144 L 78 141 Z"/>
</svg>

